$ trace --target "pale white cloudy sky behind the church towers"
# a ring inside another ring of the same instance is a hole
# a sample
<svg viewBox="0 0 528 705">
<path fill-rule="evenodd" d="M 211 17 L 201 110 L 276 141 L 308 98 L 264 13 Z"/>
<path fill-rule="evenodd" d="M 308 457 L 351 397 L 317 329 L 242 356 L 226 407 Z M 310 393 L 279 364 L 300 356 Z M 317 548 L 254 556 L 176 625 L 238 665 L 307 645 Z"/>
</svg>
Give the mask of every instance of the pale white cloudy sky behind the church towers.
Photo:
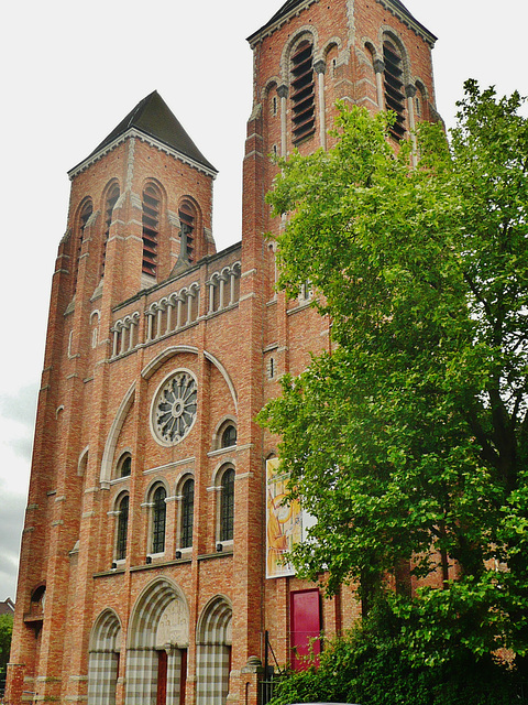
<svg viewBox="0 0 528 705">
<path fill-rule="evenodd" d="M 51 278 L 75 166 L 157 89 L 205 156 L 218 249 L 240 239 L 252 53 L 245 37 L 284 0 L 29 0 L 3 8 L 4 313 L 0 346 L 0 600 L 15 598 Z M 439 41 L 448 127 L 463 82 L 528 95 L 526 0 L 404 0 Z M 9 246 L 9 247 L 8 247 Z"/>
</svg>

